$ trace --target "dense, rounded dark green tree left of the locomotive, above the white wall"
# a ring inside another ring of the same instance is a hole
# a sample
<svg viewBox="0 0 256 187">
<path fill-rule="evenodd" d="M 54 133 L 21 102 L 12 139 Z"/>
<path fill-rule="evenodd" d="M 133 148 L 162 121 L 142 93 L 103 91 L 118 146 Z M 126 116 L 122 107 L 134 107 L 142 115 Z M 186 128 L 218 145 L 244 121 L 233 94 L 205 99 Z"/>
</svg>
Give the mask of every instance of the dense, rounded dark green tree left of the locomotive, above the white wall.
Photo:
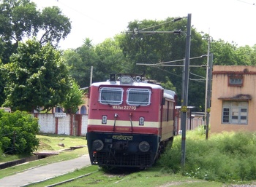
<svg viewBox="0 0 256 187">
<path fill-rule="evenodd" d="M 63 103 L 69 92 L 69 72 L 59 51 L 36 39 L 20 43 L 18 53 L 4 65 L 7 100 L 12 111 L 50 110 Z"/>
</svg>

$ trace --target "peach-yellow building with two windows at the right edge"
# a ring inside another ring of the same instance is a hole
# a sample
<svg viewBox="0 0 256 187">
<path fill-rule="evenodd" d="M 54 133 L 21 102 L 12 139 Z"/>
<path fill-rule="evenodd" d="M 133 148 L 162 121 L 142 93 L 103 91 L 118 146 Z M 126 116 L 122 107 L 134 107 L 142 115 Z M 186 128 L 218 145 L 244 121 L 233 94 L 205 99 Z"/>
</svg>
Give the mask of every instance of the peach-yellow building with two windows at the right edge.
<svg viewBox="0 0 256 187">
<path fill-rule="evenodd" d="M 256 67 L 214 65 L 211 133 L 256 131 Z"/>
</svg>

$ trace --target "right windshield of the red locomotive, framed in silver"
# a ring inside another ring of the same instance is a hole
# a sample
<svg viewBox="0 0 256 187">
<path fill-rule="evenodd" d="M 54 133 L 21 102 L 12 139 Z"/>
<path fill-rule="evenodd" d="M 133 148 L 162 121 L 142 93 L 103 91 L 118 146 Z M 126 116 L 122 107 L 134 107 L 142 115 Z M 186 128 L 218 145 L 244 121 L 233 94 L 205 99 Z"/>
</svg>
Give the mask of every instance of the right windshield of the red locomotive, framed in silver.
<svg viewBox="0 0 256 187">
<path fill-rule="evenodd" d="M 148 106 L 150 105 L 150 89 L 127 89 L 127 104 L 129 106 Z"/>
</svg>

